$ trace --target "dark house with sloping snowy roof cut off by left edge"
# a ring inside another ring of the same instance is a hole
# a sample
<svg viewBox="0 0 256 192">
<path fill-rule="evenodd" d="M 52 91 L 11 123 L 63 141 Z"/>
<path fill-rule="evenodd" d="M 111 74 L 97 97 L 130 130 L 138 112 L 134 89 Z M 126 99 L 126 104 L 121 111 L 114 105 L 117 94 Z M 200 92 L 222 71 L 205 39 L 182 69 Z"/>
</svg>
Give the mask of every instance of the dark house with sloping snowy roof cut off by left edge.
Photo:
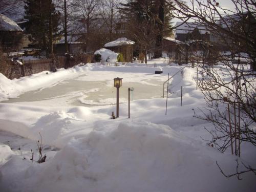
<svg viewBox="0 0 256 192">
<path fill-rule="evenodd" d="M 22 48 L 23 30 L 12 19 L 0 14 L 0 46 L 4 52 Z"/>
</svg>

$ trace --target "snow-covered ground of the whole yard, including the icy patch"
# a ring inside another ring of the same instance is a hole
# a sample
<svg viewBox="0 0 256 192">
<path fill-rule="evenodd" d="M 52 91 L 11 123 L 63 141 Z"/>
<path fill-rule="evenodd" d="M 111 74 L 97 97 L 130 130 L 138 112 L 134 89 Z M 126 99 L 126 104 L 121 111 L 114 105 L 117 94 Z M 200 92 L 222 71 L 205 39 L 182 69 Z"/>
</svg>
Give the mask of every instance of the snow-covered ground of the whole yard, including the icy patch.
<svg viewBox="0 0 256 192">
<path fill-rule="evenodd" d="M 231 174 L 236 156 L 208 146 L 204 127 L 212 125 L 193 117 L 205 106 L 196 69 L 185 68 L 169 82 L 165 115 L 162 84 L 180 69 L 158 59 L 148 65 L 87 64 L 14 80 L 0 74 L 0 190 L 255 191 L 253 174 L 238 181 L 220 173 L 216 161 Z M 117 76 L 123 86 L 119 118 L 112 120 Z M 128 87 L 135 88 L 130 119 Z M 47 156 L 41 164 L 30 161 L 31 150 L 38 158 L 39 133 Z M 255 167 L 255 152 L 242 144 L 243 162 Z"/>
</svg>

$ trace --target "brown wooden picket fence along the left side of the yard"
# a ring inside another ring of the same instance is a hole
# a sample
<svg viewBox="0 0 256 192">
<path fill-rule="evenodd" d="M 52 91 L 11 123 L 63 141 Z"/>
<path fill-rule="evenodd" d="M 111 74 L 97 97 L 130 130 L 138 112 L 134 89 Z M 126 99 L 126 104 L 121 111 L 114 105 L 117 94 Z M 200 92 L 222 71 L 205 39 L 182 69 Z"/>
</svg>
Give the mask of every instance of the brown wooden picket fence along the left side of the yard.
<svg viewBox="0 0 256 192">
<path fill-rule="evenodd" d="M 80 58 L 79 58 L 80 59 Z M 29 76 L 31 74 L 40 73 L 42 71 L 55 72 L 59 68 L 70 68 L 77 65 L 79 62 L 90 62 L 91 56 L 83 57 L 83 60 L 70 59 L 65 56 L 58 56 L 54 59 L 38 59 L 38 60 L 24 60 L 23 65 L 12 62 L 10 60 L 0 61 L 0 73 L 9 79 Z"/>
</svg>

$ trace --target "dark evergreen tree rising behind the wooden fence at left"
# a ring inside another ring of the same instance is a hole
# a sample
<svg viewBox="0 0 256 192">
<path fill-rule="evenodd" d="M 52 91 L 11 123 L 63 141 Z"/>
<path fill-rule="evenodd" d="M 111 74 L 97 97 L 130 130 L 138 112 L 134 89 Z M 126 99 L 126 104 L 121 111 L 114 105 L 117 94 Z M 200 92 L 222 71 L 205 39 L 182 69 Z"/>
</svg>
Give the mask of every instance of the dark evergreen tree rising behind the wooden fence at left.
<svg viewBox="0 0 256 192">
<path fill-rule="evenodd" d="M 52 1 L 26 0 L 25 18 L 28 19 L 27 31 L 32 35 L 33 42 L 38 48 L 51 51 L 51 33 L 56 37 L 59 32 L 58 25 L 60 13 L 55 10 Z"/>
</svg>

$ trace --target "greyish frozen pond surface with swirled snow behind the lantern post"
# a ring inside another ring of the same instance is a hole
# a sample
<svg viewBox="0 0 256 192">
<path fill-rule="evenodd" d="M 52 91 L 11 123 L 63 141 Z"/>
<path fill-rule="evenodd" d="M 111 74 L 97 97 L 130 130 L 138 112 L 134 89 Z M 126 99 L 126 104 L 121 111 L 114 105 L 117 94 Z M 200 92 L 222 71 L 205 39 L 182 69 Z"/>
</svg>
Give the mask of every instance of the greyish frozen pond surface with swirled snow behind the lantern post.
<svg viewBox="0 0 256 192">
<path fill-rule="evenodd" d="M 128 88 L 135 90 L 131 98 L 150 99 L 161 97 L 161 80 L 144 79 L 140 82 L 125 82 L 119 89 L 120 103 L 127 102 Z M 44 101 L 45 104 L 54 105 L 112 105 L 116 103 L 116 88 L 113 79 L 108 81 L 64 80 L 52 87 L 31 91 L 20 95 L 18 98 L 3 101 L 5 103 Z"/>
</svg>

